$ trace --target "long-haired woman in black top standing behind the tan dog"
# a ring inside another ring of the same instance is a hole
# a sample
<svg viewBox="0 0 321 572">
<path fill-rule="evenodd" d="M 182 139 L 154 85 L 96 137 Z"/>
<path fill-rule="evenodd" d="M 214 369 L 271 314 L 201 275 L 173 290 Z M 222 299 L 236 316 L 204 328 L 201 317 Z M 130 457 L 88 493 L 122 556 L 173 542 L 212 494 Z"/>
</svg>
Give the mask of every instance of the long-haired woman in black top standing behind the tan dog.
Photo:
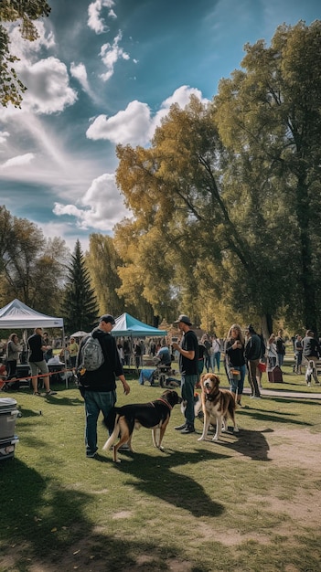
<svg viewBox="0 0 321 572">
<path fill-rule="evenodd" d="M 230 391 L 240 408 L 246 372 L 244 347 L 245 340 L 241 333 L 241 326 L 238 323 L 233 323 L 225 342 L 225 362 L 230 379 Z M 233 372 L 239 372 L 239 375 Z"/>
</svg>

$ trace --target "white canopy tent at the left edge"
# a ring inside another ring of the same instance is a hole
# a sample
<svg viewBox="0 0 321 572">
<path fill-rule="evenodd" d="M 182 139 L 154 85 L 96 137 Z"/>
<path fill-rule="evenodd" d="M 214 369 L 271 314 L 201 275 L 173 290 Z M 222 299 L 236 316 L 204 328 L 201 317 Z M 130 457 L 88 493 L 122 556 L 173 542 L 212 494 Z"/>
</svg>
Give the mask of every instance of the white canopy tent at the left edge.
<svg viewBox="0 0 321 572">
<path fill-rule="evenodd" d="M 20 300 L 13 300 L 0 309 L 0 330 L 27 330 L 35 328 L 61 328 L 62 329 L 62 347 L 65 343 L 65 331 L 63 318 L 47 316 L 44 313 L 37 312 L 29 308 Z M 66 377 L 66 387 L 68 380 Z"/>
</svg>

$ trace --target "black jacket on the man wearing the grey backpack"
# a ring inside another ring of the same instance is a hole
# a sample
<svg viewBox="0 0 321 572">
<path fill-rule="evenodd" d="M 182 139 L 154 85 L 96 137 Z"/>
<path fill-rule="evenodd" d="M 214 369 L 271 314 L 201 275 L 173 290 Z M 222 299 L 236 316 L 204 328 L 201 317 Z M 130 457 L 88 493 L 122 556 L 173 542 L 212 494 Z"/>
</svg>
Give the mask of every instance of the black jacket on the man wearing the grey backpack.
<svg viewBox="0 0 321 572">
<path fill-rule="evenodd" d="M 80 377 L 80 383 L 90 391 L 112 391 L 116 388 L 116 376 L 123 375 L 123 366 L 117 350 L 115 338 L 98 328 L 91 332 L 92 337 L 98 338 L 102 345 L 104 362 L 95 371 L 86 371 Z M 87 336 L 82 338 L 77 355 L 76 366 L 81 363 L 81 348 L 85 344 Z"/>
</svg>

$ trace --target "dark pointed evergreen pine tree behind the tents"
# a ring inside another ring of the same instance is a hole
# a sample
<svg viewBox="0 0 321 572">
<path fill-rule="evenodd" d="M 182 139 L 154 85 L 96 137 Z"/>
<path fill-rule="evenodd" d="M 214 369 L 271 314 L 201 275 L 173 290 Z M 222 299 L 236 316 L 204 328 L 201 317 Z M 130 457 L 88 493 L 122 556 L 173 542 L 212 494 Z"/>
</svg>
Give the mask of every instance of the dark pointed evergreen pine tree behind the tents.
<svg viewBox="0 0 321 572">
<path fill-rule="evenodd" d="M 85 266 L 79 240 L 68 269 L 62 315 L 68 334 L 78 330 L 91 332 L 98 322 L 98 304 L 91 289 L 90 273 Z"/>
</svg>

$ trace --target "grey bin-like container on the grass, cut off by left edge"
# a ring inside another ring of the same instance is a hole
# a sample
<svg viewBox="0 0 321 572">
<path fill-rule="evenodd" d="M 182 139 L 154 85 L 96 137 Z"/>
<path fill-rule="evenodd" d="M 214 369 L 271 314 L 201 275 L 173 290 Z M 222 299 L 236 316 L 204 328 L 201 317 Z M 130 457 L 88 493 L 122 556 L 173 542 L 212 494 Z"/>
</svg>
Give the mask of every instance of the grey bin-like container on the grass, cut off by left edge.
<svg viewBox="0 0 321 572">
<path fill-rule="evenodd" d="M 15 455 L 15 446 L 18 442 L 15 435 L 18 414 L 16 399 L 0 398 L 0 461 Z"/>
</svg>

